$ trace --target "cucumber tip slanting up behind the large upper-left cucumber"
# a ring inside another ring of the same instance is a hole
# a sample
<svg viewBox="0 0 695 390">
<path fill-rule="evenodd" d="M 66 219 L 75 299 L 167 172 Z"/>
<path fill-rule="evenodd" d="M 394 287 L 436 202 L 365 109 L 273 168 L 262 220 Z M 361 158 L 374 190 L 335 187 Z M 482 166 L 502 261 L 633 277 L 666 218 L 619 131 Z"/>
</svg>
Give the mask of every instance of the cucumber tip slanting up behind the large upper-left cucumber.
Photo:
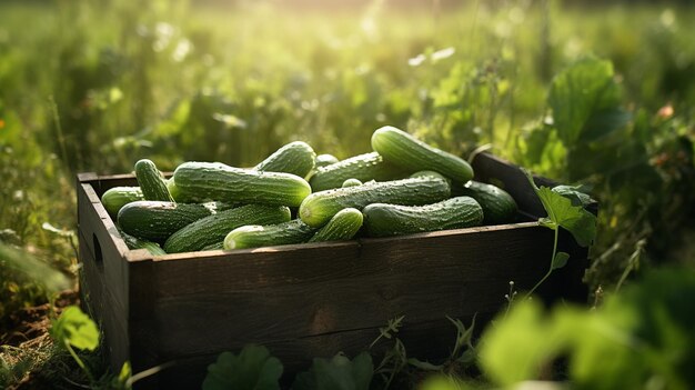
<svg viewBox="0 0 695 390">
<path fill-rule="evenodd" d="M 314 169 L 316 153 L 306 142 L 294 141 L 255 166 L 256 171 L 285 172 L 305 178 Z"/>
</svg>

